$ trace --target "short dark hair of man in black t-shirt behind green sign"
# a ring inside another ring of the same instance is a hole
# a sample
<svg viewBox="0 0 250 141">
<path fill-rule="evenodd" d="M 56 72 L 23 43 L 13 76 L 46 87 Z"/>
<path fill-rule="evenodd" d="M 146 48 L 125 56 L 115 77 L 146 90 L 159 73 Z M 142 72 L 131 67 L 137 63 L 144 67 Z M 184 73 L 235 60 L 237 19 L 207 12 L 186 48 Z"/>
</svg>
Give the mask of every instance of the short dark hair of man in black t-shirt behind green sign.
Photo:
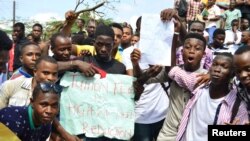
<svg viewBox="0 0 250 141">
<path fill-rule="evenodd" d="M 96 31 L 95 31 L 95 38 L 97 38 L 97 36 L 100 36 L 100 35 L 109 36 L 113 40 L 115 38 L 114 30 L 111 27 L 106 26 L 106 25 L 97 26 Z"/>
</svg>

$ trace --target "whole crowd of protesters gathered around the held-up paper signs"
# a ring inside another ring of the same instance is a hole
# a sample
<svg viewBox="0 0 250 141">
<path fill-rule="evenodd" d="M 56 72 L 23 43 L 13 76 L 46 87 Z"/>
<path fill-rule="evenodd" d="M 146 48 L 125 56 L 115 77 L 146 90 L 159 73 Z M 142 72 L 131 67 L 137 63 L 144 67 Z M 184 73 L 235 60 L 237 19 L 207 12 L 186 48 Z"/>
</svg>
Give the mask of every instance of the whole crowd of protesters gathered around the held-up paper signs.
<svg viewBox="0 0 250 141">
<path fill-rule="evenodd" d="M 141 16 L 133 29 L 68 11 L 48 41 L 39 23 L 27 35 L 15 23 L 12 40 L 0 30 L 0 123 L 24 141 L 118 141 L 72 135 L 58 119 L 63 75 L 105 71 L 137 78 L 131 141 L 206 141 L 208 125 L 249 125 L 250 0 L 175 0 L 159 17 L 174 19 L 171 66 L 147 69 L 138 49 Z M 74 23 L 79 31 L 71 33 Z"/>
</svg>

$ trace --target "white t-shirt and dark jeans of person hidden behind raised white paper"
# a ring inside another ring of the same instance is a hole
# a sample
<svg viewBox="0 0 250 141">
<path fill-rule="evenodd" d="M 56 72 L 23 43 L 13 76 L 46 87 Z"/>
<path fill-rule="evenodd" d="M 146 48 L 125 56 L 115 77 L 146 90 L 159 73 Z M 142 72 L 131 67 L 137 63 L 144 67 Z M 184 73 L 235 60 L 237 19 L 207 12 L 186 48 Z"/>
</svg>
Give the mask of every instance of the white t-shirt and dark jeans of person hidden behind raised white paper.
<svg viewBox="0 0 250 141">
<path fill-rule="evenodd" d="M 137 29 L 140 28 L 137 27 Z M 124 49 L 122 53 L 122 62 L 126 66 L 127 74 L 129 75 L 133 75 L 130 54 L 135 48 L 138 48 L 139 42 Z M 139 65 L 144 69 L 148 67 L 148 64 Z M 135 141 L 156 140 L 162 128 L 169 104 L 168 96 L 160 83 L 144 86 L 145 88 L 140 99 L 135 103 Z"/>
</svg>

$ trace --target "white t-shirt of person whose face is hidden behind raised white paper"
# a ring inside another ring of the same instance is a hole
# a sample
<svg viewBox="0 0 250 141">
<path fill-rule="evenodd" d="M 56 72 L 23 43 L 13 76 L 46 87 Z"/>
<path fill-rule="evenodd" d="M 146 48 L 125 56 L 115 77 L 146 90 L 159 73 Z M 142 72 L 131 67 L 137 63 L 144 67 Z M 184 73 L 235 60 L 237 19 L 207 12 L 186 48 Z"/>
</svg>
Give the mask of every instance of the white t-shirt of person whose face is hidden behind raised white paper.
<svg viewBox="0 0 250 141">
<path fill-rule="evenodd" d="M 126 70 L 133 69 L 130 54 L 137 47 L 138 43 L 123 50 L 122 63 L 126 66 Z M 139 65 L 141 68 L 146 68 L 148 66 L 143 64 Z M 135 122 L 151 124 L 163 120 L 169 105 L 169 99 L 166 92 L 163 90 L 160 83 L 144 85 L 144 88 L 144 92 L 135 105 Z"/>
</svg>

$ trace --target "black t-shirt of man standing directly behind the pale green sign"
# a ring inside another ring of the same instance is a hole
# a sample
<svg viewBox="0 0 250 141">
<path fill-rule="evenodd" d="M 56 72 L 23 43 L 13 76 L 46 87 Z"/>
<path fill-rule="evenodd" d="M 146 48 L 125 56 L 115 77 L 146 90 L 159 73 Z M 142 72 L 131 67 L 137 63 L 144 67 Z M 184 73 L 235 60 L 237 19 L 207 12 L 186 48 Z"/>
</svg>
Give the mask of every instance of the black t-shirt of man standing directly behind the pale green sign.
<svg viewBox="0 0 250 141">
<path fill-rule="evenodd" d="M 125 65 L 113 59 L 109 62 L 103 62 L 96 59 L 96 56 L 87 56 L 83 58 L 83 61 L 93 63 L 95 66 L 111 74 L 126 74 Z"/>
</svg>

